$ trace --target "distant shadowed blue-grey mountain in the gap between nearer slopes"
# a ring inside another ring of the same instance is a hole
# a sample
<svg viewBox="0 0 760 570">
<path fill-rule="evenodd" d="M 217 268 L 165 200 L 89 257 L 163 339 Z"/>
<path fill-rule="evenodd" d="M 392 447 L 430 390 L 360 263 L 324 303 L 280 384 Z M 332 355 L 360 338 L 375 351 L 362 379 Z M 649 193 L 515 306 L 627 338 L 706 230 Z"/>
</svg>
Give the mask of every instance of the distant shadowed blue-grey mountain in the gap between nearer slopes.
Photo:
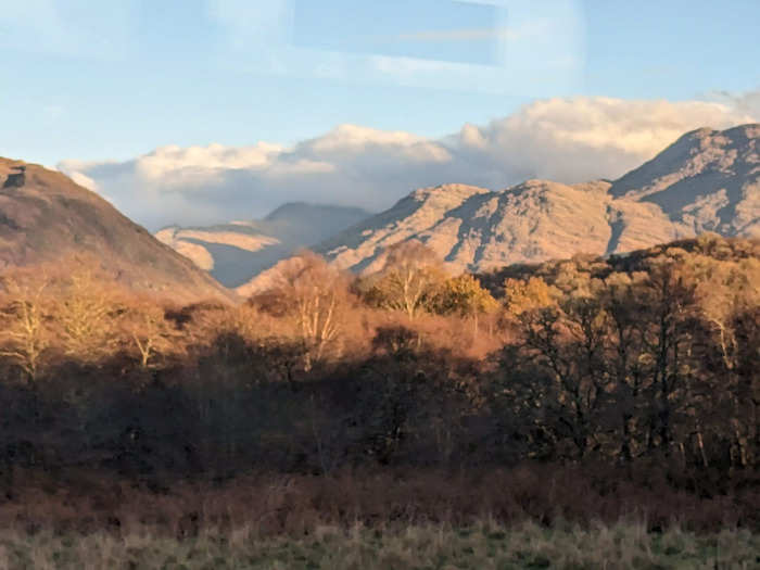
<svg viewBox="0 0 760 570">
<path fill-rule="evenodd" d="M 155 233 L 227 287 L 238 287 L 299 248 L 319 243 L 371 214 L 356 207 L 284 204 L 264 219 L 172 226 Z"/>
</svg>

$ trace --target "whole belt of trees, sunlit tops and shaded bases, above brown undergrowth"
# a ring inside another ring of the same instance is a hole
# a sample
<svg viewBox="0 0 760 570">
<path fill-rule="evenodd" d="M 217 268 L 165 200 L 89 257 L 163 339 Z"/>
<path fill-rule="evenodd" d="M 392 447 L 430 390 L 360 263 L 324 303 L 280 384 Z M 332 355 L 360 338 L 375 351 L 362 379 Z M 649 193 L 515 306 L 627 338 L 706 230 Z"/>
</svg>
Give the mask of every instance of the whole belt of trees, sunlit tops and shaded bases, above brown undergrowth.
<svg viewBox="0 0 760 570">
<path fill-rule="evenodd" d="M 455 277 L 411 242 L 381 265 L 355 278 L 303 253 L 240 306 L 136 299 L 96 264 L 5 275 L 4 484 L 77 466 L 227 478 L 540 461 L 711 492 L 757 476 L 757 241 Z"/>
</svg>

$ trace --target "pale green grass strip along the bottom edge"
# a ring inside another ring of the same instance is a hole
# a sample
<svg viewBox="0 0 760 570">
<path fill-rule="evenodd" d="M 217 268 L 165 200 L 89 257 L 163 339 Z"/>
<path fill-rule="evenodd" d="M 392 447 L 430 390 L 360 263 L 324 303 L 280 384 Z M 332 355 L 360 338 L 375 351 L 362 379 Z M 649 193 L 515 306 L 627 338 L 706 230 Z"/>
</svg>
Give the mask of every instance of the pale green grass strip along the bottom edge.
<svg viewBox="0 0 760 570">
<path fill-rule="evenodd" d="M 507 529 L 491 522 L 466 529 L 321 527 L 297 539 L 258 539 L 245 528 L 183 540 L 157 537 L 148 528 L 124 536 L 4 531 L 0 568 L 752 569 L 760 568 L 760 536 L 740 530 L 695 535 L 675 527 L 647 533 L 636 523 Z"/>
</svg>

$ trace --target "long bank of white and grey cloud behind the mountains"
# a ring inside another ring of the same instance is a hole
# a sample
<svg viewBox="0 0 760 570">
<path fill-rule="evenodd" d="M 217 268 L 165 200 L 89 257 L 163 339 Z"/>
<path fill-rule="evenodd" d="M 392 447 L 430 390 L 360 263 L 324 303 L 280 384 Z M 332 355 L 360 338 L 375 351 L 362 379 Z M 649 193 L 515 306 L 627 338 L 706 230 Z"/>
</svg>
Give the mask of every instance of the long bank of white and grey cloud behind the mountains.
<svg viewBox="0 0 760 570">
<path fill-rule="evenodd" d="M 501 189 L 527 178 L 617 178 L 688 130 L 757 122 L 753 97 L 547 99 L 441 139 L 341 125 L 292 147 L 169 145 L 126 162 L 58 167 L 149 229 L 259 217 L 289 201 L 380 211 L 445 182 Z"/>
</svg>

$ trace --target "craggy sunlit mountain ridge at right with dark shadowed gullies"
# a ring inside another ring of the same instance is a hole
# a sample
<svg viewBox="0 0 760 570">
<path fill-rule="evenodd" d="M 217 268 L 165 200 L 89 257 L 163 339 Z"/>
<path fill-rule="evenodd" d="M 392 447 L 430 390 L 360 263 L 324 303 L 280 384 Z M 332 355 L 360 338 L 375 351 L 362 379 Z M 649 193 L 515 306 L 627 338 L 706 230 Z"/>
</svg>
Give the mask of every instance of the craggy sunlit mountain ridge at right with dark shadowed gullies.
<svg viewBox="0 0 760 570">
<path fill-rule="evenodd" d="M 353 271 L 416 239 L 455 270 L 482 271 L 584 252 L 629 252 L 704 231 L 760 236 L 760 125 L 698 129 L 615 181 L 528 180 L 501 191 L 416 190 L 316 250 Z"/>
</svg>

